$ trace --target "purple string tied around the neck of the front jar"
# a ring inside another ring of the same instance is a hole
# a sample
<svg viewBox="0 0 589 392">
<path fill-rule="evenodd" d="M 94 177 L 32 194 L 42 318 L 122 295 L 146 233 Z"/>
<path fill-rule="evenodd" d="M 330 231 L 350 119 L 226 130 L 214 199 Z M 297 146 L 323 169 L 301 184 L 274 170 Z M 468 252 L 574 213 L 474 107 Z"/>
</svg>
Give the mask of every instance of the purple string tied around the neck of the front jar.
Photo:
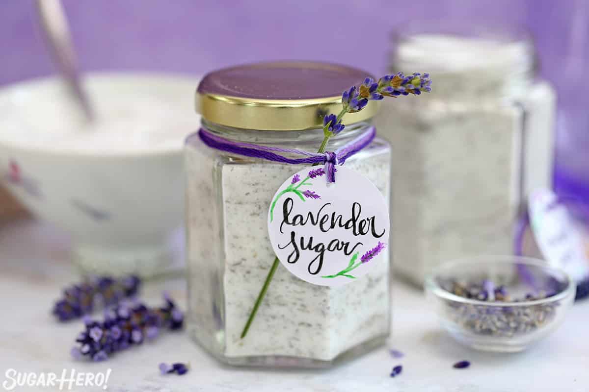
<svg viewBox="0 0 589 392">
<path fill-rule="evenodd" d="M 346 162 L 346 159 L 368 146 L 375 136 L 376 128 L 371 126 L 366 132 L 358 136 L 358 138 L 335 150 L 335 152 L 327 151 L 325 153 L 314 153 L 305 150 L 234 142 L 233 140 L 224 139 L 220 136 L 214 135 L 214 133 L 211 133 L 204 128 L 198 130 L 198 137 L 200 140 L 210 148 L 216 150 L 250 156 L 252 158 L 272 160 L 273 162 L 287 163 L 289 165 L 300 165 L 301 163 L 313 165 L 315 163 L 323 163 L 325 164 L 324 170 L 327 175 L 327 182 L 335 182 L 335 165 L 343 165 L 343 163 Z M 302 155 L 305 156 L 305 158 L 287 158 L 286 156 L 280 155 L 280 153 Z"/>
</svg>

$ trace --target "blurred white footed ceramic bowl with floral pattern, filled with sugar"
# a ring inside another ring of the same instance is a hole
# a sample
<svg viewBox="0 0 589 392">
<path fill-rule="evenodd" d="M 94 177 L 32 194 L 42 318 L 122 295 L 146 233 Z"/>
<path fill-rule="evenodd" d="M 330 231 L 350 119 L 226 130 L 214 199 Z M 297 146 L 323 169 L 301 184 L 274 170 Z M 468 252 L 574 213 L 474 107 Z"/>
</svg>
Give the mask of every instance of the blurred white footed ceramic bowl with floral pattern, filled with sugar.
<svg viewBox="0 0 589 392">
<path fill-rule="evenodd" d="M 102 118 L 97 126 L 111 129 L 111 116 L 124 118 L 112 122 L 121 137 L 72 138 L 93 128 L 58 79 L 7 86 L 0 89 L 0 181 L 34 215 L 71 234 L 72 257 L 85 272 L 157 273 L 171 260 L 168 237 L 182 222 L 183 141 L 200 123 L 198 79 L 97 73 L 85 85 Z"/>
</svg>

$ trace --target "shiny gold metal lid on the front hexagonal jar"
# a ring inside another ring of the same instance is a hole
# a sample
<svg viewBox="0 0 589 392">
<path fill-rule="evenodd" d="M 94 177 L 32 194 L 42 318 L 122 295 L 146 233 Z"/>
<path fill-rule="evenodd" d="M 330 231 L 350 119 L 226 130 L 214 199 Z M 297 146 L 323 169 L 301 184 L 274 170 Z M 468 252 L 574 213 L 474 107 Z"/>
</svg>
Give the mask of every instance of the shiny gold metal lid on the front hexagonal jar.
<svg viewBox="0 0 589 392">
<path fill-rule="evenodd" d="M 342 92 L 370 76 L 332 63 L 262 62 L 214 71 L 198 85 L 196 111 L 204 119 L 233 128 L 302 130 L 320 128 L 323 117 L 339 113 Z M 378 101 L 342 122 L 376 115 Z"/>
</svg>

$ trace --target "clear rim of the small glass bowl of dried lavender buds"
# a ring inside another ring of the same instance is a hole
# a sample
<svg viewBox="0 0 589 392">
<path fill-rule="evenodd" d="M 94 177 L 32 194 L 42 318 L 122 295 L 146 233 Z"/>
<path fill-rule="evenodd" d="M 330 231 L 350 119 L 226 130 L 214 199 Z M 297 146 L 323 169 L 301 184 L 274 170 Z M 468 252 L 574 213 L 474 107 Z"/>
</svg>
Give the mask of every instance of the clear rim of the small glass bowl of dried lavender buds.
<svg viewBox="0 0 589 392">
<path fill-rule="evenodd" d="M 542 269 L 551 270 L 554 274 L 561 274 L 564 277 L 565 283 L 567 286 L 561 292 L 555 294 L 554 296 L 537 299 L 537 300 L 527 300 L 527 301 L 518 301 L 518 302 L 501 302 L 501 301 L 482 301 L 482 300 L 475 300 L 469 299 L 465 297 L 458 296 L 456 294 L 450 293 L 444 290 L 438 283 L 437 277 L 441 272 L 446 270 L 454 269 L 460 265 L 481 265 L 481 264 L 513 264 L 517 266 L 517 264 L 524 264 L 525 266 L 534 266 L 534 267 L 541 267 Z M 567 272 L 565 270 L 554 267 L 545 262 L 541 259 L 536 259 L 534 257 L 525 257 L 525 256 L 510 256 L 510 255 L 485 255 L 485 256 L 474 256 L 474 257 L 461 257 L 459 259 L 450 260 L 448 262 L 442 263 L 440 266 L 436 267 L 428 276 L 425 278 L 424 283 L 425 289 L 428 292 L 435 294 L 436 297 L 441 297 L 446 300 L 455 301 L 464 304 L 471 304 L 471 305 L 478 305 L 478 306 L 500 306 L 500 307 L 519 307 L 519 306 L 531 306 L 531 305 L 542 305 L 548 304 L 552 302 L 558 302 L 561 300 L 566 299 L 569 296 L 575 295 L 576 285 Z"/>
</svg>

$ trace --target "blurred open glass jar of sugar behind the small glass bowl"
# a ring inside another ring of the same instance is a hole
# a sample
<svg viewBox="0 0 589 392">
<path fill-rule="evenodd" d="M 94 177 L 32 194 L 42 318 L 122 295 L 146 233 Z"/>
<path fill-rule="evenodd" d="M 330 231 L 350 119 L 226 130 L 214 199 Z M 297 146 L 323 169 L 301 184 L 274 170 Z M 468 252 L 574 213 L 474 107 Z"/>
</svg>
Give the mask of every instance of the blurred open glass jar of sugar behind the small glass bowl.
<svg viewBox="0 0 589 392">
<path fill-rule="evenodd" d="M 429 24 L 392 41 L 391 72 L 434 81 L 375 120 L 393 151 L 393 264 L 422 284 L 443 260 L 511 252 L 522 200 L 551 185 L 555 93 L 523 32 Z"/>
</svg>

